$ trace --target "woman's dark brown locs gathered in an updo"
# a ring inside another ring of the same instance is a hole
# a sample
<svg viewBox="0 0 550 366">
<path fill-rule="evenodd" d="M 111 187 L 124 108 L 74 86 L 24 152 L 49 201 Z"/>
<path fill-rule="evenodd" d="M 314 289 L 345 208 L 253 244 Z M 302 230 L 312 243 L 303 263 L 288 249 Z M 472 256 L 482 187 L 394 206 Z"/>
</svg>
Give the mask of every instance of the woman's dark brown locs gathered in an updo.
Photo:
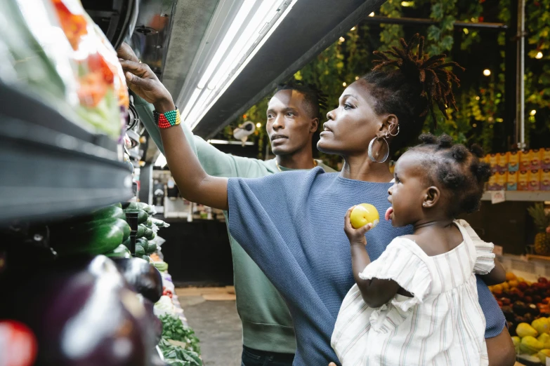
<svg viewBox="0 0 550 366">
<path fill-rule="evenodd" d="M 417 52 L 412 46 L 418 43 Z M 362 79 L 369 84 L 377 114 L 395 114 L 398 117 L 400 133 L 392 140 L 393 151 L 405 147 L 417 137 L 430 112 L 434 126 L 437 126 L 434 104 L 447 116 L 447 108 L 457 110 L 452 93 L 452 84 L 459 86 L 459 79 L 447 67 L 464 68 L 457 62 L 445 62 L 446 55 L 429 57 L 424 53 L 424 37 L 415 34 L 409 43 L 400 39 L 401 47 L 393 46 L 384 52 L 374 51 L 372 72 Z M 387 67 L 394 67 L 387 71 Z M 396 68 L 395 68 L 396 67 Z"/>
</svg>

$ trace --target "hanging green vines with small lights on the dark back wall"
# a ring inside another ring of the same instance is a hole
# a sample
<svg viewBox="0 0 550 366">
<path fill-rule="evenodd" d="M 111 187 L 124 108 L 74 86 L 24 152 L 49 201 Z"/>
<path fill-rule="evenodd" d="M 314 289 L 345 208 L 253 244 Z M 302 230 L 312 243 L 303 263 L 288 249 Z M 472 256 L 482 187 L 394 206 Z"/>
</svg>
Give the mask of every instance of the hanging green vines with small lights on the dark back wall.
<svg viewBox="0 0 550 366">
<path fill-rule="evenodd" d="M 431 55 L 445 53 L 449 59 L 470 53 L 474 46 L 480 46 L 484 42 L 491 42 L 491 36 L 487 32 L 476 29 L 457 29 L 454 22 L 483 22 L 484 11 L 487 11 L 485 0 L 414 0 L 400 1 L 388 0 L 384 3 L 376 15 L 390 18 L 400 18 L 407 11 L 415 11 L 416 18 L 431 18 L 435 25 L 414 29 L 427 38 L 427 50 Z M 496 19 L 493 21 L 504 22 L 509 25 L 511 18 L 515 17 L 510 11 L 509 1 L 487 1 L 492 3 L 491 11 Z M 495 6 L 497 4 L 497 6 Z M 535 139 L 541 135 L 550 133 L 550 0 L 528 0 L 526 4 L 525 24 L 528 27 L 526 40 L 526 68 L 525 68 L 525 119 L 528 121 L 526 139 Z M 329 109 L 337 105 L 337 100 L 343 89 L 349 83 L 353 83 L 359 76 L 372 68 L 372 51 L 386 50 L 398 45 L 401 37 L 410 38 L 412 32 L 402 25 L 372 25 L 362 22 L 353 27 L 346 34 L 342 34 L 336 41 L 315 59 L 296 72 L 297 80 L 315 83 L 328 95 Z M 494 37 L 494 36 L 493 36 Z M 454 140 L 461 143 L 481 144 L 487 152 L 510 149 L 511 144 L 502 139 L 510 139 L 506 135 L 506 128 L 502 126 L 504 116 L 504 80 L 505 73 L 508 77 L 515 77 L 515 70 L 506 72 L 504 60 L 504 46 L 506 34 L 500 32 L 497 37 L 499 45 L 499 65 L 492 69 L 489 77 L 475 76 L 475 82 L 462 83 L 459 90 L 455 90 L 459 111 L 452 114 L 452 118 L 446 120 L 438 114 L 438 130 L 436 133 L 447 133 Z M 543 57 L 537 59 L 537 54 Z M 471 55 L 473 62 L 478 62 L 483 55 Z M 514 55 L 512 55 L 513 57 Z M 469 59 L 468 59 L 469 60 Z M 462 62 L 464 65 L 464 62 Z M 469 65 L 464 65 L 469 69 Z M 468 71 L 466 71 L 468 72 Z M 462 79 L 462 78 L 461 78 Z M 463 80 L 464 81 L 464 80 Z M 270 97 L 270 96 L 269 96 Z M 509 96 L 509 102 L 513 102 L 515 96 Z M 243 121 L 254 121 L 262 124 L 256 130 L 256 134 L 250 140 L 258 143 L 258 157 L 263 158 L 268 139 L 266 137 L 265 121 L 268 98 L 264 98 L 247 111 L 239 120 L 225 128 L 224 135 L 231 137 L 231 131 Z M 535 110 L 536 114 L 530 112 Z M 322 111 L 323 115 L 327 111 Z M 513 118 L 513 117 L 509 117 Z M 430 130 L 433 121 L 427 118 L 425 130 Z M 322 126 L 320 126 L 322 128 Z M 497 133 L 495 133 L 497 131 Z M 537 146 L 535 146 L 537 145 Z M 550 141 L 533 141 L 532 147 L 548 147 Z M 339 156 L 326 156 L 319 153 L 320 158 L 336 165 L 341 161 Z"/>
</svg>

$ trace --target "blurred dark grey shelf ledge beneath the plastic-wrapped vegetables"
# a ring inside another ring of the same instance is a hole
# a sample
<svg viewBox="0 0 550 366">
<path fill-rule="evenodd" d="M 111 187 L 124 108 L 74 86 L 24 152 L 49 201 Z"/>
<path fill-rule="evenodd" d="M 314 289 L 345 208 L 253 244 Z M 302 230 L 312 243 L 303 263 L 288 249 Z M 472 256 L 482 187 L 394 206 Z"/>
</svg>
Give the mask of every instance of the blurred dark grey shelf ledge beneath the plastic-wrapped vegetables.
<svg viewBox="0 0 550 366">
<path fill-rule="evenodd" d="M 132 196 L 117 144 L 0 83 L 0 223 L 77 214 Z"/>
</svg>

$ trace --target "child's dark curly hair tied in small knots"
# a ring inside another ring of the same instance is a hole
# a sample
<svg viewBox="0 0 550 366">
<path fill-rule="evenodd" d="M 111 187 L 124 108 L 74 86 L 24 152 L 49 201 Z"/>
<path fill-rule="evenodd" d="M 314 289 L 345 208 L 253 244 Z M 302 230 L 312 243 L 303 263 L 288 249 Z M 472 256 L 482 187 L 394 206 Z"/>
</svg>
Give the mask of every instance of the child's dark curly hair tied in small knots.
<svg viewBox="0 0 550 366">
<path fill-rule="evenodd" d="M 491 177 L 490 165 L 480 161 L 483 149 L 474 144 L 470 149 L 463 144 L 453 144 L 449 135 L 436 137 L 424 134 L 421 144 L 409 151 L 419 152 L 428 169 L 429 184 L 440 183 L 452 191 L 448 214 L 451 217 L 479 209 L 485 183 Z"/>
</svg>

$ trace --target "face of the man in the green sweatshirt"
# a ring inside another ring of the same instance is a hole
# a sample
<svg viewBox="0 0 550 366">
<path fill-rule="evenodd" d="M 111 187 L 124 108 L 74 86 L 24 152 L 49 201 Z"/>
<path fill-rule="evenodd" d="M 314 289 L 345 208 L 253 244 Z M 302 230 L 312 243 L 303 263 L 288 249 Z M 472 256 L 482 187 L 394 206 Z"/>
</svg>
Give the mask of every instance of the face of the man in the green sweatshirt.
<svg viewBox="0 0 550 366">
<path fill-rule="evenodd" d="M 296 90 L 280 90 L 269 101 L 267 111 L 271 149 L 275 155 L 294 154 L 311 146 L 318 119 L 312 118 L 303 94 Z"/>
</svg>

